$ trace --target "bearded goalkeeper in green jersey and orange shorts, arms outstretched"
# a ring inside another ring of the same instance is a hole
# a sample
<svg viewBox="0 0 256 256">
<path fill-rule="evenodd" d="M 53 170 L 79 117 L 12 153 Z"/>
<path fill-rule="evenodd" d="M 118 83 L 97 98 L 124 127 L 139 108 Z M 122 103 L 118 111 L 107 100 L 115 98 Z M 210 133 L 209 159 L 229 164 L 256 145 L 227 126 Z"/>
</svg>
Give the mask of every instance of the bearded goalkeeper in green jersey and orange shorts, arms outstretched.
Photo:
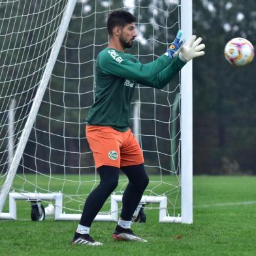
<svg viewBox="0 0 256 256">
<path fill-rule="evenodd" d="M 125 10 L 109 14 L 108 47 L 99 53 L 95 65 L 95 103 L 87 118 L 86 137 L 101 182 L 88 196 L 73 244 L 100 246 L 89 236 L 89 229 L 105 200 L 118 185 L 120 168 L 129 180 L 122 199 L 122 210 L 112 237 L 116 240 L 147 242 L 131 230 L 131 219 L 148 185 L 142 150 L 129 128 L 130 103 L 137 83 L 162 89 L 187 61 L 204 55 L 201 38 L 191 37 L 183 45 L 182 31 L 167 52 L 155 61 L 142 64 L 125 48 L 136 38 L 135 16 Z"/>
</svg>

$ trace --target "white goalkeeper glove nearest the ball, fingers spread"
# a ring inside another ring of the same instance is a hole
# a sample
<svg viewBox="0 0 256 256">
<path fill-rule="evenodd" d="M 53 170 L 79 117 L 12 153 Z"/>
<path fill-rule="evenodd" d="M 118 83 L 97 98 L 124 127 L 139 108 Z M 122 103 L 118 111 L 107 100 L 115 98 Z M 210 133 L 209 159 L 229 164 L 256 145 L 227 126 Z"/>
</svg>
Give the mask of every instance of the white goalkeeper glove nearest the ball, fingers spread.
<svg viewBox="0 0 256 256">
<path fill-rule="evenodd" d="M 197 37 L 193 35 L 189 42 L 182 46 L 180 48 L 180 54 L 179 57 L 182 59 L 182 61 L 187 62 L 193 59 L 194 57 L 199 57 L 204 55 L 204 49 L 205 45 L 200 44 L 202 41 L 202 38 L 199 37 L 197 40 L 195 40 Z"/>
</svg>

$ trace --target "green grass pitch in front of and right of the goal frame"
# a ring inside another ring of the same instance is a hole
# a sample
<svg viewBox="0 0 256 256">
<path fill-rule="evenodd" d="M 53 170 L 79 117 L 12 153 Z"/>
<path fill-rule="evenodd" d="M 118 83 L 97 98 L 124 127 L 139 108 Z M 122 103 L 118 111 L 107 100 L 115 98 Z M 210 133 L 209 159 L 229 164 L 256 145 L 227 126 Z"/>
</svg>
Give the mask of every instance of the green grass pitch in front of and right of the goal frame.
<svg viewBox="0 0 256 256">
<path fill-rule="evenodd" d="M 193 225 L 158 223 L 157 210 L 133 224 L 148 243 L 114 241 L 116 223 L 95 222 L 104 246 L 72 246 L 76 221 L 32 222 L 18 208 L 22 220 L 0 220 L 0 255 L 256 255 L 256 177 L 195 176 L 193 190 Z"/>
</svg>

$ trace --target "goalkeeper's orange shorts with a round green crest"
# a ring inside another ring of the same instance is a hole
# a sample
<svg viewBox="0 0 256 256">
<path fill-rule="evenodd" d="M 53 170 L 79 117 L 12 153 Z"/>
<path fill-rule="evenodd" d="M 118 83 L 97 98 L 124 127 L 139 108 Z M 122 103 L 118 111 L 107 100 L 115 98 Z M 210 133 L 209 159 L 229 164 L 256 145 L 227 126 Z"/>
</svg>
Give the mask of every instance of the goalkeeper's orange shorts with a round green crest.
<svg viewBox="0 0 256 256">
<path fill-rule="evenodd" d="M 120 168 L 144 163 L 142 150 L 131 129 L 121 132 L 108 126 L 87 125 L 86 138 L 96 168 L 102 165 Z"/>
</svg>

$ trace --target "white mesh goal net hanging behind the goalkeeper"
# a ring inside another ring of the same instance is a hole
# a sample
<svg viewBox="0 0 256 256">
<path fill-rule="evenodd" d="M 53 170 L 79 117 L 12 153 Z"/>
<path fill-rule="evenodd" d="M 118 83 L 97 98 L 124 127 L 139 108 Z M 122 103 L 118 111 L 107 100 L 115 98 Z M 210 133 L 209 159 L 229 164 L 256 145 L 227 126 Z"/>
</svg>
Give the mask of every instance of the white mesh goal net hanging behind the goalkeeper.
<svg viewBox="0 0 256 256">
<path fill-rule="evenodd" d="M 28 193 L 61 193 L 62 212 L 74 214 L 74 219 L 82 213 L 86 197 L 99 183 L 85 135 L 95 97 L 95 60 L 108 45 L 108 14 L 123 8 L 136 16 L 138 34 L 127 52 L 142 63 L 161 56 L 181 28 L 183 7 L 178 0 L 1 1 L 0 218 L 8 212 L 12 191 L 28 199 Z M 189 71 L 187 65 L 182 71 L 188 80 Z M 181 76 L 161 90 L 138 84 L 131 129 L 150 176 L 144 202 L 164 196 L 167 215 L 191 223 L 191 196 L 182 202 L 182 193 L 191 194 L 192 181 L 187 180 L 191 163 L 182 165 L 182 143 L 191 138 L 189 133 L 182 138 L 181 127 L 191 129 L 191 123 L 189 127 L 182 121 Z M 189 93 L 186 103 L 191 102 Z M 182 187 L 185 176 L 189 185 Z M 114 194 L 122 195 L 126 185 L 121 175 Z M 161 208 L 154 200 L 147 202 L 146 211 Z M 110 214 L 110 204 L 108 199 L 101 214 Z"/>
</svg>

